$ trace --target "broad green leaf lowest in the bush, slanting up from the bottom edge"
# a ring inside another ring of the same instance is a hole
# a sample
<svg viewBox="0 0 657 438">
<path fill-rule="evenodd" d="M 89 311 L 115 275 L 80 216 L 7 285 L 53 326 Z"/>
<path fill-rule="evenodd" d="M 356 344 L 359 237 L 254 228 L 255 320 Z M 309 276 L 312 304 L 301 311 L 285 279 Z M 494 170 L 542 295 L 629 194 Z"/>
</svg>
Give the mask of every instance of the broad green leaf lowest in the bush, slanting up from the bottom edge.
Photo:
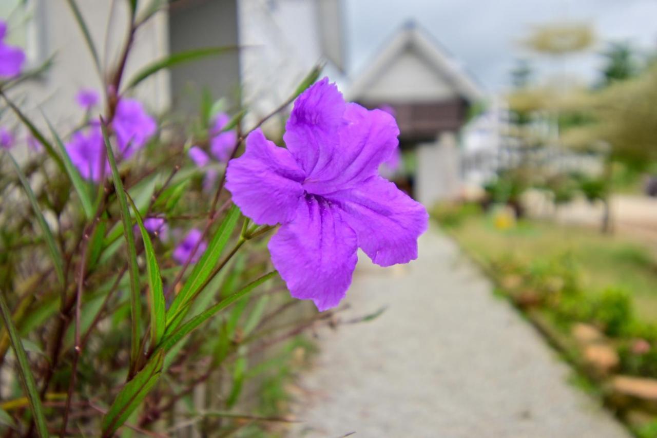
<svg viewBox="0 0 657 438">
<path fill-rule="evenodd" d="M 112 402 L 110 410 L 102 418 L 102 436 L 111 437 L 116 429 L 121 427 L 125 420 L 141 404 L 152 387 L 158 382 L 162 373 L 164 354 L 154 354 L 146 366 L 135 377 L 125 383 Z"/>
</svg>

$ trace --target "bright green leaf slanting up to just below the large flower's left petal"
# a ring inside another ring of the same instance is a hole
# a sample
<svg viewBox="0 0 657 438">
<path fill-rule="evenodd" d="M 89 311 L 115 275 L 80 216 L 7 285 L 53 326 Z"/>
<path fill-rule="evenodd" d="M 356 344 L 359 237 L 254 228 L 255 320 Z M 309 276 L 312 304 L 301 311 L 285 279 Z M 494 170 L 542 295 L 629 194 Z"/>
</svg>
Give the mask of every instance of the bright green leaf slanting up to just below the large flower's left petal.
<svg viewBox="0 0 657 438">
<path fill-rule="evenodd" d="M 179 308 L 183 304 L 187 303 L 187 300 L 190 297 L 193 297 L 196 293 L 198 287 L 204 283 L 210 276 L 212 269 L 217 265 L 221 253 L 228 243 L 228 239 L 231 237 L 235 226 L 237 225 L 237 220 L 240 217 L 240 209 L 237 206 L 233 205 L 226 217 L 221 222 L 221 226 L 217 229 L 206 249 L 205 253 L 201 256 L 200 260 L 194 265 L 194 269 L 190 274 L 187 281 L 183 285 L 181 291 L 173 299 L 173 303 L 167 312 L 167 326 L 170 326 L 171 321 L 177 316 Z"/>
</svg>

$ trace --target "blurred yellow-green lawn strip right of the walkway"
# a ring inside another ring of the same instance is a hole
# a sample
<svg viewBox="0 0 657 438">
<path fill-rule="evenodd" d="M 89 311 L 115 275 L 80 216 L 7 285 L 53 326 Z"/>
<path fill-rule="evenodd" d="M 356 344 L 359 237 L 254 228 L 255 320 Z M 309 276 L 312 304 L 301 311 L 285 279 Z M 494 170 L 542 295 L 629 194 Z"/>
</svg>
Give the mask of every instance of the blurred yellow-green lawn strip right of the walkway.
<svg viewBox="0 0 657 438">
<path fill-rule="evenodd" d="M 622 287 L 631 293 L 640 320 L 657 321 L 657 261 L 647 245 L 551 222 L 520 221 L 509 230 L 497 230 L 484 215 L 465 218 L 451 233 L 468 253 L 484 261 L 512 255 L 533 262 L 568 254 L 586 293 Z"/>
</svg>

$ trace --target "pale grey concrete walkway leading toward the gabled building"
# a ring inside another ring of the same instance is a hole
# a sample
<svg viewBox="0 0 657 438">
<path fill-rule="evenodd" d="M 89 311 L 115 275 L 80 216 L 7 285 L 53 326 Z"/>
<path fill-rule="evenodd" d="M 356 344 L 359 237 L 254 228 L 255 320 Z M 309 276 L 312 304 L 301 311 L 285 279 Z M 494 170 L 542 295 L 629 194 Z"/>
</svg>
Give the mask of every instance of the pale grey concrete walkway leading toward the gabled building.
<svg viewBox="0 0 657 438">
<path fill-rule="evenodd" d="M 292 437 L 627 437 L 534 329 L 453 242 L 430 230 L 419 260 L 382 269 L 361 257 L 353 318 L 321 331 L 302 376 Z"/>
</svg>

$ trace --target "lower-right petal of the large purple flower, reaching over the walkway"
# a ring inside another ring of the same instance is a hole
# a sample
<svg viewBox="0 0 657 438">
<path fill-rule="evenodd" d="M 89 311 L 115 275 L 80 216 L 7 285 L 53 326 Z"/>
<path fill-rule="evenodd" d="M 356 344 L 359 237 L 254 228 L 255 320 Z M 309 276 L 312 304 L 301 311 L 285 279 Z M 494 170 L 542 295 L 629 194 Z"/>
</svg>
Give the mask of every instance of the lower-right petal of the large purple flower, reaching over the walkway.
<svg viewBox="0 0 657 438">
<path fill-rule="evenodd" d="M 417 238 L 426 231 L 428 214 L 394 183 L 373 176 L 327 198 L 344 210 L 358 246 L 374 263 L 390 266 L 417 258 Z"/>
</svg>

